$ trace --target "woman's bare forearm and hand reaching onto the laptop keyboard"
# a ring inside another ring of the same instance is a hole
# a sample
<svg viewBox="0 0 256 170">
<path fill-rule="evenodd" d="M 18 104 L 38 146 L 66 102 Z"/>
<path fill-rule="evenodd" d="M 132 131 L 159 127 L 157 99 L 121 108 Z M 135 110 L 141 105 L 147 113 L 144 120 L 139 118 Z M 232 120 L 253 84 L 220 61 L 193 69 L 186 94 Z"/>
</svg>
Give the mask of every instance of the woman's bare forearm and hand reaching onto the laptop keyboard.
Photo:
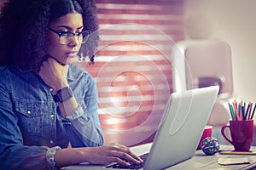
<svg viewBox="0 0 256 170">
<path fill-rule="evenodd" d="M 130 162 L 132 164 L 140 164 L 143 160 L 128 147 L 120 144 L 88 148 L 67 148 L 57 150 L 55 153 L 56 167 L 67 167 L 81 162 L 98 165 L 117 162 L 120 165 L 129 166 Z"/>
</svg>

